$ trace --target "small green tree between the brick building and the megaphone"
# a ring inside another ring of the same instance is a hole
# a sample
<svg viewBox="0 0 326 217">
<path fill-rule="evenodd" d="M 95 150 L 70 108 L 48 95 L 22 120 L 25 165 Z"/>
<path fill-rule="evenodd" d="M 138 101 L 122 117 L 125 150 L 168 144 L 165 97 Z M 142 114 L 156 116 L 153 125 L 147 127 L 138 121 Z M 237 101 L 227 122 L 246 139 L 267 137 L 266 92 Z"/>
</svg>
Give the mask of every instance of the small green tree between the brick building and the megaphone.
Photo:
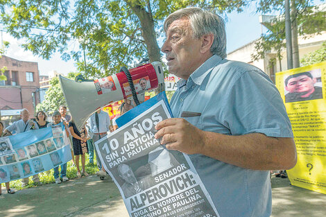
<svg viewBox="0 0 326 217">
<path fill-rule="evenodd" d="M 70 72 L 68 73 L 67 78 L 74 79 L 80 73 Z M 60 105 L 67 105 L 65 97 L 59 83 L 59 78 L 54 77 L 50 80 L 50 87 L 45 92 L 44 101 L 36 105 L 37 111 L 44 111 L 48 114 L 52 114 L 54 111 L 59 110 Z"/>
</svg>

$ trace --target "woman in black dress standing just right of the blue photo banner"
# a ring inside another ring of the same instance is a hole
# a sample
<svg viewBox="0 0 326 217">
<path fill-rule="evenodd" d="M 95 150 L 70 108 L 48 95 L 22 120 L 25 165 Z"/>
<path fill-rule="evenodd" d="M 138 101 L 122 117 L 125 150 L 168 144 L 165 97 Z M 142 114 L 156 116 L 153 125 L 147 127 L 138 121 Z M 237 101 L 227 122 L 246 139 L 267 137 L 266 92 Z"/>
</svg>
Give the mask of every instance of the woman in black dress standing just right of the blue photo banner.
<svg viewBox="0 0 326 217">
<path fill-rule="evenodd" d="M 82 175 L 89 176 L 85 171 L 85 153 L 88 152 L 87 147 L 87 131 L 85 130 L 85 126 L 79 132 L 78 128 L 75 125 L 73 119 L 69 122 L 69 130 L 72 135 L 73 147 L 74 147 L 74 155 L 75 155 L 75 164 L 77 168 L 77 177 L 82 177 Z M 79 170 L 79 156 L 81 155 L 82 162 L 82 171 L 80 173 Z"/>
</svg>

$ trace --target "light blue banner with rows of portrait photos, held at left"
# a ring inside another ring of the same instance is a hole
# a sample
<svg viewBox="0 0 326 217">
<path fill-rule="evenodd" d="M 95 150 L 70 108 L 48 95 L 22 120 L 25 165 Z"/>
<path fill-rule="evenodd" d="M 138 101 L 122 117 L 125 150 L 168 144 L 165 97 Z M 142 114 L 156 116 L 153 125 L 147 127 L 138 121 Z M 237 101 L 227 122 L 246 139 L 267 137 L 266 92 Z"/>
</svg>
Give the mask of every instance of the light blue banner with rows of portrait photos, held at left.
<svg viewBox="0 0 326 217">
<path fill-rule="evenodd" d="M 69 145 L 64 142 L 65 126 L 29 130 L 9 137 L 1 137 L 0 183 L 19 180 L 71 160 Z M 2 144 L 6 144 L 3 150 Z M 3 155 L 8 150 L 10 155 Z"/>
</svg>

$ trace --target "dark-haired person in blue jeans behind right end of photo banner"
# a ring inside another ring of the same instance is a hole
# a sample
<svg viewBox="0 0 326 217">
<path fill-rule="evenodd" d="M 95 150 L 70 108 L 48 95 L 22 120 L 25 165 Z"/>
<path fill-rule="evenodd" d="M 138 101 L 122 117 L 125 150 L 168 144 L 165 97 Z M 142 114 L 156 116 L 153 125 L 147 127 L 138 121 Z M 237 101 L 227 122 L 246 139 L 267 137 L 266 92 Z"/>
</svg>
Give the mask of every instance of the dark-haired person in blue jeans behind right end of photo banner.
<svg viewBox="0 0 326 217">
<path fill-rule="evenodd" d="M 65 123 L 65 121 L 61 122 L 61 114 L 60 114 L 60 112 L 58 112 L 58 111 L 53 112 L 52 120 L 53 120 L 53 122 L 49 123 L 47 125 L 48 128 L 53 127 L 55 125 L 64 124 L 66 133 L 67 133 L 67 135 L 69 135 L 69 132 L 67 132 L 68 131 L 67 130 L 68 129 L 67 123 Z M 53 158 L 53 162 L 55 162 L 56 161 L 55 159 L 58 158 L 55 155 L 52 155 L 51 157 Z M 67 163 L 61 164 L 60 167 L 61 167 L 60 176 L 62 178 L 62 181 L 63 182 L 69 181 L 68 177 L 66 176 L 66 174 L 67 174 Z M 61 180 L 60 180 L 60 177 L 59 177 L 59 166 L 53 168 L 53 170 L 54 170 L 53 176 L 54 176 L 54 179 L 55 179 L 55 184 L 60 184 Z"/>
</svg>

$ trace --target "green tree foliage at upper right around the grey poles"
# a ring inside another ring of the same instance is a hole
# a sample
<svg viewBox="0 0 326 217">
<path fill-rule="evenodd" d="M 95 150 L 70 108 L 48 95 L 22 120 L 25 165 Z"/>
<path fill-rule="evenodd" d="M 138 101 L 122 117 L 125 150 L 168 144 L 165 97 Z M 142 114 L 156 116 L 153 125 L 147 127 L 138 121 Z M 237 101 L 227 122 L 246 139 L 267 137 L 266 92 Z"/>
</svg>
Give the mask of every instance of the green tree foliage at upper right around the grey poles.
<svg viewBox="0 0 326 217">
<path fill-rule="evenodd" d="M 322 31 L 326 31 L 326 12 L 319 10 L 313 4 L 314 1 L 309 0 L 291 0 L 291 21 L 294 24 L 293 26 L 298 27 L 298 35 L 303 37 L 311 37 L 311 34 L 320 34 Z M 267 52 L 275 51 L 276 57 L 271 61 L 273 64 L 276 60 L 282 60 L 282 49 L 286 46 L 284 1 L 257 1 L 257 12 L 280 13 L 280 16 L 275 16 L 274 19 L 264 24 L 268 28 L 268 31 L 264 35 L 261 35 L 255 44 L 255 53 L 252 54 L 252 60 L 259 60 L 264 58 Z"/>
</svg>

